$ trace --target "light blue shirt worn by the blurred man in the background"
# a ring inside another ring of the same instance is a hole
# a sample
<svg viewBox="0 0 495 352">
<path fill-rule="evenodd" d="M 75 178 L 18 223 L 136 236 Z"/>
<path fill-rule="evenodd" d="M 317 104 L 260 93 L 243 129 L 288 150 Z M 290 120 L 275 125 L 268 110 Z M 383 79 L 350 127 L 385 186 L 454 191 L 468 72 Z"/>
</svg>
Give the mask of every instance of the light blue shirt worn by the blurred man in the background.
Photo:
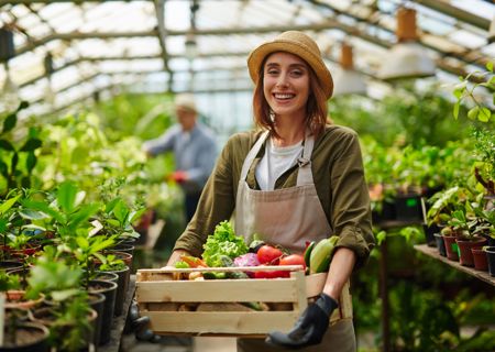
<svg viewBox="0 0 495 352">
<path fill-rule="evenodd" d="M 201 191 L 217 160 L 215 134 L 199 122 L 190 131 L 174 124 L 157 139 L 144 142 L 143 148 L 151 155 L 174 152 L 176 169 L 189 177 L 180 184 L 186 194 Z"/>
</svg>

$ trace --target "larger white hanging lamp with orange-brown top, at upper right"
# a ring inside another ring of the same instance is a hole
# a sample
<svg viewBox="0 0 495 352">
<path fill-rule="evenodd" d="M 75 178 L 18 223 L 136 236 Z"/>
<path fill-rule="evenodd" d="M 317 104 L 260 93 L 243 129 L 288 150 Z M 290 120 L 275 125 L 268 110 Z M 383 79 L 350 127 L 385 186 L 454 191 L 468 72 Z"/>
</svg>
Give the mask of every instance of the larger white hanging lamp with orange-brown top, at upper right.
<svg viewBox="0 0 495 352">
<path fill-rule="evenodd" d="M 392 47 L 377 77 L 383 80 L 398 80 L 433 76 L 436 64 L 418 43 L 416 10 L 407 8 L 397 10 L 396 36 L 397 44 Z"/>
</svg>

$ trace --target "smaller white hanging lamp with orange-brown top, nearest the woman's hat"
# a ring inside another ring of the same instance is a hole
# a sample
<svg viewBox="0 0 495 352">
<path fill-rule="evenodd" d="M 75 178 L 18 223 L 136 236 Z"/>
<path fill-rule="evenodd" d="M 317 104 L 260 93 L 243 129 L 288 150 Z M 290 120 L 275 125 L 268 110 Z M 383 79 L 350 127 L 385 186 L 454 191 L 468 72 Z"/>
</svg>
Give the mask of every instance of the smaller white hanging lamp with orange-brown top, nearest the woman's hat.
<svg viewBox="0 0 495 352">
<path fill-rule="evenodd" d="M 363 75 L 354 69 L 352 46 L 344 42 L 340 50 L 341 70 L 334 75 L 333 96 L 366 95 L 366 82 Z"/>
</svg>

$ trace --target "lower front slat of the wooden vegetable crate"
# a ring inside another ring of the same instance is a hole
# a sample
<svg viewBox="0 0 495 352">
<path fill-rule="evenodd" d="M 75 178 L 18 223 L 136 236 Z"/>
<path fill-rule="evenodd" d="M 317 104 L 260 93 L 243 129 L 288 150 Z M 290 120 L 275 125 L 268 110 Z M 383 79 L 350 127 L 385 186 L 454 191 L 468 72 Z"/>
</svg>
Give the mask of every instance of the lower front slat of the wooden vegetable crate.
<svg viewBox="0 0 495 352">
<path fill-rule="evenodd" d="M 297 311 L 250 312 L 143 312 L 151 319 L 155 333 L 190 332 L 227 334 L 265 334 L 273 330 L 289 331 L 298 318 Z"/>
</svg>

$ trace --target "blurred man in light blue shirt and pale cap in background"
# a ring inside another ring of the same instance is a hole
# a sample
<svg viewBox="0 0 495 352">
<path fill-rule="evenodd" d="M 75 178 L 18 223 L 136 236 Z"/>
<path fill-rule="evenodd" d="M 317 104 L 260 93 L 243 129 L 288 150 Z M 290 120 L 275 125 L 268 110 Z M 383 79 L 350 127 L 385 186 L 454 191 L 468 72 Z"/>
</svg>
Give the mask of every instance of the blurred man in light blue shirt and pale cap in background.
<svg viewBox="0 0 495 352">
<path fill-rule="evenodd" d="M 144 142 L 143 150 L 148 156 L 173 152 L 175 172 L 170 175 L 184 190 L 186 221 L 193 218 L 199 196 L 217 158 L 213 132 L 198 121 L 198 110 L 190 94 L 175 98 L 176 124 L 161 136 Z"/>
</svg>

